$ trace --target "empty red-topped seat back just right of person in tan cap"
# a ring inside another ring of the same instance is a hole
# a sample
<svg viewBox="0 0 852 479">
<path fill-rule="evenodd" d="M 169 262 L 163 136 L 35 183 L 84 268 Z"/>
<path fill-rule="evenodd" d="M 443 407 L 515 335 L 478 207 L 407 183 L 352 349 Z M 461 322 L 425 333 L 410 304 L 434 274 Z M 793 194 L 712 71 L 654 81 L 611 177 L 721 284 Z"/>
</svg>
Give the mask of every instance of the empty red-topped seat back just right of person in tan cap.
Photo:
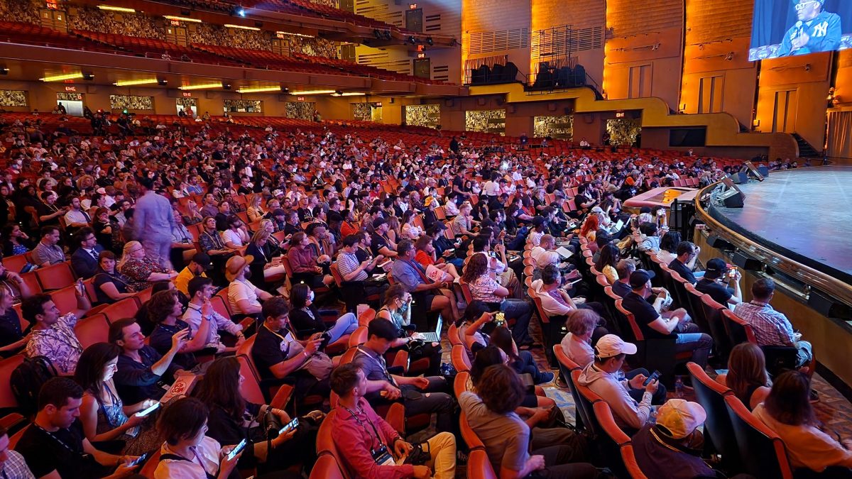
<svg viewBox="0 0 852 479">
<path fill-rule="evenodd" d="M 728 409 L 725 407 L 725 396 L 734 395 L 734 391 L 728 389 L 716 380 L 707 376 L 704 369 L 694 362 L 687 364 L 689 375 L 692 376 L 692 384 L 695 390 L 695 398 L 707 413 L 704 423 L 704 436 L 710 439 L 717 453 L 722 455 L 722 460 L 728 466 L 728 470 L 740 470 L 740 452 L 737 449 L 737 441 L 734 438 L 734 426 L 728 417 Z"/>
</svg>

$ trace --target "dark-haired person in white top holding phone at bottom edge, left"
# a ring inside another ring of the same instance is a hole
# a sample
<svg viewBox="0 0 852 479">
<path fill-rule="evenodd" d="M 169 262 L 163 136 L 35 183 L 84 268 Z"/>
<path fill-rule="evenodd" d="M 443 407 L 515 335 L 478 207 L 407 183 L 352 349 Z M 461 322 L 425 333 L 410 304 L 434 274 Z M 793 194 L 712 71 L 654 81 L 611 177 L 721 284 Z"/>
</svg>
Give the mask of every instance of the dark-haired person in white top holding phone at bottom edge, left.
<svg viewBox="0 0 852 479">
<path fill-rule="evenodd" d="M 198 477 L 227 479 L 236 469 L 245 449 L 233 458 L 236 444 L 222 447 L 207 432 L 210 411 L 194 397 L 181 397 L 169 403 L 157 419 L 157 430 L 165 438 L 155 479 Z"/>
</svg>

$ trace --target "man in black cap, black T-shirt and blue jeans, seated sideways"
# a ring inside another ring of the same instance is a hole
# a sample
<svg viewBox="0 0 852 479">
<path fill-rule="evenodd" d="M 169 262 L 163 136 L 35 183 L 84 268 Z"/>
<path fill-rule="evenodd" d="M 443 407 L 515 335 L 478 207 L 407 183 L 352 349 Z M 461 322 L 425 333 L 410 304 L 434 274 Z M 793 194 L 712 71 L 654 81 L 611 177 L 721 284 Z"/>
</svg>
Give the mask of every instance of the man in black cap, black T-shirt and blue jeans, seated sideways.
<svg viewBox="0 0 852 479">
<path fill-rule="evenodd" d="M 675 353 L 692 352 L 692 361 L 699 366 L 707 366 L 707 356 L 713 345 L 713 338 L 699 332 L 699 327 L 690 322 L 685 309 L 660 312 L 668 291 L 651 286 L 653 271 L 636 269 L 630 274 L 630 292 L 621 300 L 621 305 L 633 314 L 636 324 L 642 329 L 646 339 L 669 338 L 675 335 Z M 656 295 L 653 303 L 648 299 Z M 674 361 L 674 358 L 671 358 Z"/>
</svg>

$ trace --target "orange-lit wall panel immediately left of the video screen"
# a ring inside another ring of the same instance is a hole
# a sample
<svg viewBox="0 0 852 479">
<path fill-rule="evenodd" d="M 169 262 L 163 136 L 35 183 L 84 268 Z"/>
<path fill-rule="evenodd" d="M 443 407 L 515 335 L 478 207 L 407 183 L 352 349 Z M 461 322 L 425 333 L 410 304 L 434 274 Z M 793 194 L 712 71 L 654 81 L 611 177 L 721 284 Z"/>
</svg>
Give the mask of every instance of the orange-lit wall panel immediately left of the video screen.
<svg viewBox="0 0 852 479">
<path fill-rule="evenodd" d="M 748 61 L 753 4 L 686 0 L 686 6 L 680 108 L 730 113 L 750 127 L 757 88 L 757 62 Z"/>
</svg>

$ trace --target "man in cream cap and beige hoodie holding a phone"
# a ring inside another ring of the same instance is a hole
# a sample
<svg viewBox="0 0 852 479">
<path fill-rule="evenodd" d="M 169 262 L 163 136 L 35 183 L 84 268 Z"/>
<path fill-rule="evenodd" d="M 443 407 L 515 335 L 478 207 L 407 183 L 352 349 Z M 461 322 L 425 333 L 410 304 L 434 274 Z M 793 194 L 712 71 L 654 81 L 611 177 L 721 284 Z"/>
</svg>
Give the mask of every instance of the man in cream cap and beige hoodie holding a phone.
<svg viewBox="0 0 852 479">
<path fill-rule="evenodd" d="M 619 379 L 617 375 L 625 365 L 627 355 L 636 354 L 636 344 L 625 343 L 614 334 L 604 335 L 595 345 L 595 361 L 580 372 L 578 383 L 589 388 L 613 411 L 615 424 L 622 430 L 639 430 L 651 418 L 653 396 L 662 387 L 659 380 L 642 385 L 648 372 L 639 370 L 632 378 Z M 630 390 L 638 390 L 641 400 L 636 401 Z M 665 393 L 661 401 L 665 401 Z M 660 402 L 661 402 L 660 401 Z"/>
</svg>

